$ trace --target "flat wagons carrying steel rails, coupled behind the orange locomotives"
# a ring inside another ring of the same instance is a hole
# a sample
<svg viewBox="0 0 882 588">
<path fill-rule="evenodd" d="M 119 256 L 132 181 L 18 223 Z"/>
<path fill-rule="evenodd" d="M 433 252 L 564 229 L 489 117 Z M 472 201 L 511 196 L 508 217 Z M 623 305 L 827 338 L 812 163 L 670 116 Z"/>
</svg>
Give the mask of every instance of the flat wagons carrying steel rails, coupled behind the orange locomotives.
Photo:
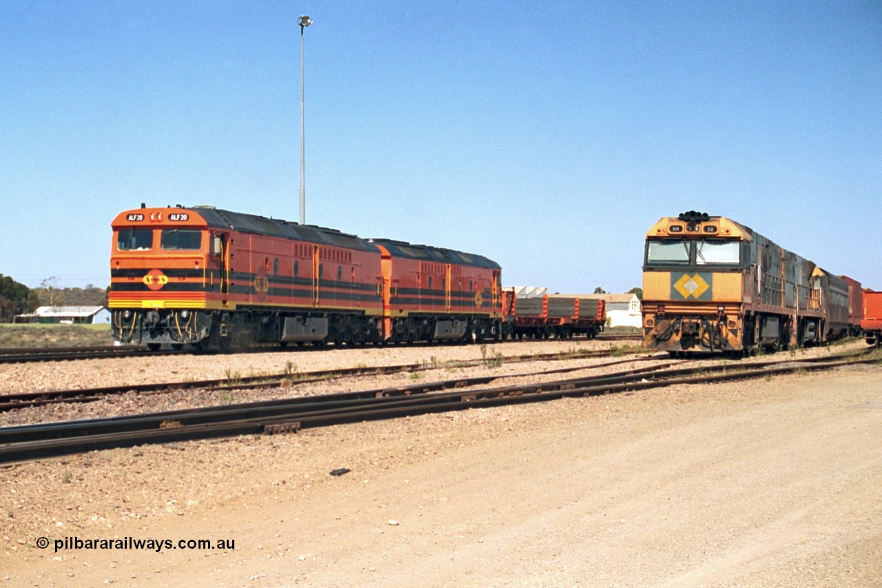
<svg viewBox="0 0 882 588">
<path fill-rule="evenodd" d="M 606 322 L 606 303 L 580 294 L 542 294 L 520 298 L 516 290 L 502 293 L 503 336 L 523 339 L 597 336 Z"/>
</svg>

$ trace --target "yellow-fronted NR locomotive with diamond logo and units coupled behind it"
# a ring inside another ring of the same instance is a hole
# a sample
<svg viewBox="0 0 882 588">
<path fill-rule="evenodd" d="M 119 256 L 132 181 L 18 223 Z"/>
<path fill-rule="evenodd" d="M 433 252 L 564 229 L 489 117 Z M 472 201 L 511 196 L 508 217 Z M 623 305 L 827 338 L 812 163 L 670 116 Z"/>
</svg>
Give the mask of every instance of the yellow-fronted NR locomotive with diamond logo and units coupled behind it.
<svg viewBox="0 0 882 588">
<path fill-rule="evenodd" d="M 859 328 L 860 283 L 751 228 L 689 211 L 647 232 L 644 347 L 743 352 L 826 343 Z"/>
</svg>

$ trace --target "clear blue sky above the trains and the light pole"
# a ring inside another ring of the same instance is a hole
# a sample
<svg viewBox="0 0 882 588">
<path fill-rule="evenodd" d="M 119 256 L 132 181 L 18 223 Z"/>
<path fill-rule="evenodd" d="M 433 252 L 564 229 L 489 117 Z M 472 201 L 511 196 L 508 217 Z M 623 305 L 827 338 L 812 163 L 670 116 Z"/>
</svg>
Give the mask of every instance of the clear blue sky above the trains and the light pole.
<svg viewBox="0 0 882 588">
<path fill-rule="evenodd" d="M 726 215 L 882 289 L 882 3 L 0 2 L 0 273 L 109 281 L 120 211 L 211 204 L 624 291 Z"/>
</svg>

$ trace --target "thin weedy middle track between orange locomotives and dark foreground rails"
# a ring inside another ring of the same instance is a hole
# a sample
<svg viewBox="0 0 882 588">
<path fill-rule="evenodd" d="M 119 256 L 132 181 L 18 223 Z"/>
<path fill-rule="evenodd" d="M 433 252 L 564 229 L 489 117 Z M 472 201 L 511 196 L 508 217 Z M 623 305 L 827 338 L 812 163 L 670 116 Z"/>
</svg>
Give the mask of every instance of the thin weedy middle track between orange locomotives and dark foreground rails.
<svg viewBox="0 0 882 588">
<path fill-rule="evenodd" d="M 416 364 L 399 364 L 393 366 L 375 366 L 375 367 L 348 367 L 336 368 L 330 370 L 318 370 L 313 372 L 298 373 L 276 373 L 273 375 L 247 376 L 235 379 L 221 378 L 213 380 L 200 381 L 174 381 L 161 382 L 154 384 L 129 384 L 123 386 L 108 386 L 104 388 L 73 388 L 67 390 L 53 390 L 47 392 L 22 392 L 14 394 L 0 395 L 0 412 L 11 411 L 14 409 L 26 408 L 28 406 L 41 406 L 50 403 L 88 403 L 100 400 L 104 396 L 115 396 L 125 394 L 127 392 L 139 393 L 162 393 L 185 389 L 246 389 L 246 388 L 273 388 L 283 384 L 295 383 L 305 384 L 315 381 L 324 381 L 330 378 L 338 377 L 362 377 L 371 375 L 385 375 L 389 373 L 399 372 L 420 372 L 439 367 L 469 367 L 493 365 L 495 362 L 502 363 L 519 363 L 527 361 L 552 361 L 562 359 L 585 359 L 585 358 L 607 358 L 614 354 L 628 353 L 617 350 L 587 350 L 575 352 L 560 353 L 542 353 L 527 356 L 502 356 L 481 359 L 464 359 L 453 360 L 444 363 L 423 362 Z M 656 356 L 659 357 L 659 356 Z M 632 360 L 623 360 L 632 361 Z M 615 362 L 621 363 L 621 362 Z"/>
</svg>

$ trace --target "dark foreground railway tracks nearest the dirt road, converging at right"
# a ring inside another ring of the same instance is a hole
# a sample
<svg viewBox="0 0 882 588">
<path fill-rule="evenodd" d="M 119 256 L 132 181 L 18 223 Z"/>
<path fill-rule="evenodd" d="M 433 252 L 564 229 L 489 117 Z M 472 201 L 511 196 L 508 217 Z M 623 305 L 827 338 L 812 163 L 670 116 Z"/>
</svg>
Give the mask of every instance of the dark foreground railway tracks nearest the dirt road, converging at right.
<svg viewBox="0 0 882 588">
<path fill-rule="evenodd" d="M 460 379 L 400 388 L 213 406 L 137 416 L 66 421 L 0 429 L 0 463 L 241 434 L 291 433 L 300 429 L 433 412 L 597 396 L 676 384 L 747 380 L 768 375 L 878 363 L 859 354 L 749 364 L 652 366 L 621 373 L 539 384 L 472 388 L 482 379 Z M 863 355 L 863 354 L 860 354 Z M 416 388 L 418 387 L 418 388 Z M 427 389 L 450 390 L 427 393 Z M 460 389 L 462 388 L 462 389 Z M 467 388 L 467 389 L 465 389 Z"/>
</svg>

